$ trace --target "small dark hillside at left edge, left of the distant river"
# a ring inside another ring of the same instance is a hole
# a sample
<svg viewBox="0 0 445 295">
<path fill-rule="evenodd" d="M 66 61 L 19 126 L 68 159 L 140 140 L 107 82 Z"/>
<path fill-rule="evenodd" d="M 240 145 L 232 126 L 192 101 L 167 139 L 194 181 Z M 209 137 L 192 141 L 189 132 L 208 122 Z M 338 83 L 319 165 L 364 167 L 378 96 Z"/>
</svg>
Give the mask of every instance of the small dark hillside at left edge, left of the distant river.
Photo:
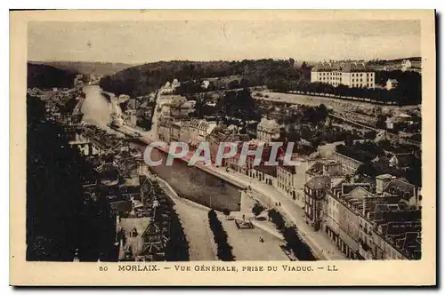
<svg viewBox="0 0 445 295">
<path fill-rule="evenodd" d="M 28 63 L 27 66 L 28 88 L 71 88 L 77 75 L 76 71 L 54 68 L 48 65 Z"/>
</svg>

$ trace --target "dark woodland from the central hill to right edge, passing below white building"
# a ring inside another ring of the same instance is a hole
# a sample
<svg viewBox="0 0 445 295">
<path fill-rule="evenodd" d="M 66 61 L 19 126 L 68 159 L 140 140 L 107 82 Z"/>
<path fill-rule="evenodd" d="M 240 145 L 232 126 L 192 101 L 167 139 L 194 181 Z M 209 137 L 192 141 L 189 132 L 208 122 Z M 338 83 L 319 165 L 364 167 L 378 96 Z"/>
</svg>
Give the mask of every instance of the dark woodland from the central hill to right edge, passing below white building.
<svg viewBox="0 0 445 295">
<path fill-rule="evenodd" d="M 222 80 L 211 79 L 218 77 Z M 265 85 L 274 92 L 335 95 L 343 99 L 366 99 L 383 104 L 419 104 L 422 98 L 422 79 L 417 72 L 376 71 L 376 89 L 349 88 L 342 84 L 334 87 L 330 84 L 310 83 L 311 68 L 305 62 L 302 67 L 296 68 L 295 60 L 292 59 L 159 61 L 104 76 L 100 85 L 108 92 L 137 96 L 153 92 L 174 78 L 182 82 L 176 90 L 181 95 Z M 210 84 L 204 89 L 201 82 L 206 79 L 210 80 Z M 399 86 L 392 91 L 380 88 L 388 79 L 396 79 Z"/>
</svg>

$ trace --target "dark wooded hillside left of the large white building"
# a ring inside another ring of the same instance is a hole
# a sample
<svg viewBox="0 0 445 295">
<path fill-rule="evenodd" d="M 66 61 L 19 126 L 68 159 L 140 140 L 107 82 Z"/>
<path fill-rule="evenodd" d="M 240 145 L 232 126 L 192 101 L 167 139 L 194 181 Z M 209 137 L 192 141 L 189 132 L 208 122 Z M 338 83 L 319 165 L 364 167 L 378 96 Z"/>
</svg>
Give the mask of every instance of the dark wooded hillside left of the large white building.
<svg viewBox="0 0 445 295">
<path fill-rule="evenodd" d="M 301 69 L 294 67 L 294 60 L 172 60 L 126 68 L 115 75 L 105 76 L 101 79 L 101 88 L 116 94 L 142 95 L 174 78 L 186 82 L 228 76 L 245 79 L 247 86 L 271 87 L 295 84 L 303 78 Z"/>
</svg>

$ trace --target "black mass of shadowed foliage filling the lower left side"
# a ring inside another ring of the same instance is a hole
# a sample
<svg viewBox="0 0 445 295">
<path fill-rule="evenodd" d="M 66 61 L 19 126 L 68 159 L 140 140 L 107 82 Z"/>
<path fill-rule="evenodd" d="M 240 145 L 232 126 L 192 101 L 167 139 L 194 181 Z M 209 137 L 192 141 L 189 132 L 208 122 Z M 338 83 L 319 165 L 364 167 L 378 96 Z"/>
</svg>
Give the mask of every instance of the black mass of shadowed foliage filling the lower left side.
<svg viewBox="0 0 445 295">
<path fill-rule="evenodd" d="M 45 119 L 44 103 L 27 98 L 27 259 L 116 259 L 114 219 L 108 203 L 94 202 L 83 183 L 93 167 L 63 127 Z M 44 140 L 43 140 L 44 139 Z"/>
</svg>

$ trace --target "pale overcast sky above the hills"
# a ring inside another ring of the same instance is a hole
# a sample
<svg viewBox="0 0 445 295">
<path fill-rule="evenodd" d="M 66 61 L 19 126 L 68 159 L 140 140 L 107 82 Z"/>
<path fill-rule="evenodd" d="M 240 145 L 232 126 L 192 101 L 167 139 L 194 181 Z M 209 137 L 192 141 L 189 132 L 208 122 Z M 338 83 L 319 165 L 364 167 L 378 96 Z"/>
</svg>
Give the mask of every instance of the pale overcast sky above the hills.
<svg viewBox="0 0 445 295">
<path fill-rule="evenodd" d="M 416 20 L 28 23 L 35 61 L 395 59 L 420 43 Z"/>
</svg>

